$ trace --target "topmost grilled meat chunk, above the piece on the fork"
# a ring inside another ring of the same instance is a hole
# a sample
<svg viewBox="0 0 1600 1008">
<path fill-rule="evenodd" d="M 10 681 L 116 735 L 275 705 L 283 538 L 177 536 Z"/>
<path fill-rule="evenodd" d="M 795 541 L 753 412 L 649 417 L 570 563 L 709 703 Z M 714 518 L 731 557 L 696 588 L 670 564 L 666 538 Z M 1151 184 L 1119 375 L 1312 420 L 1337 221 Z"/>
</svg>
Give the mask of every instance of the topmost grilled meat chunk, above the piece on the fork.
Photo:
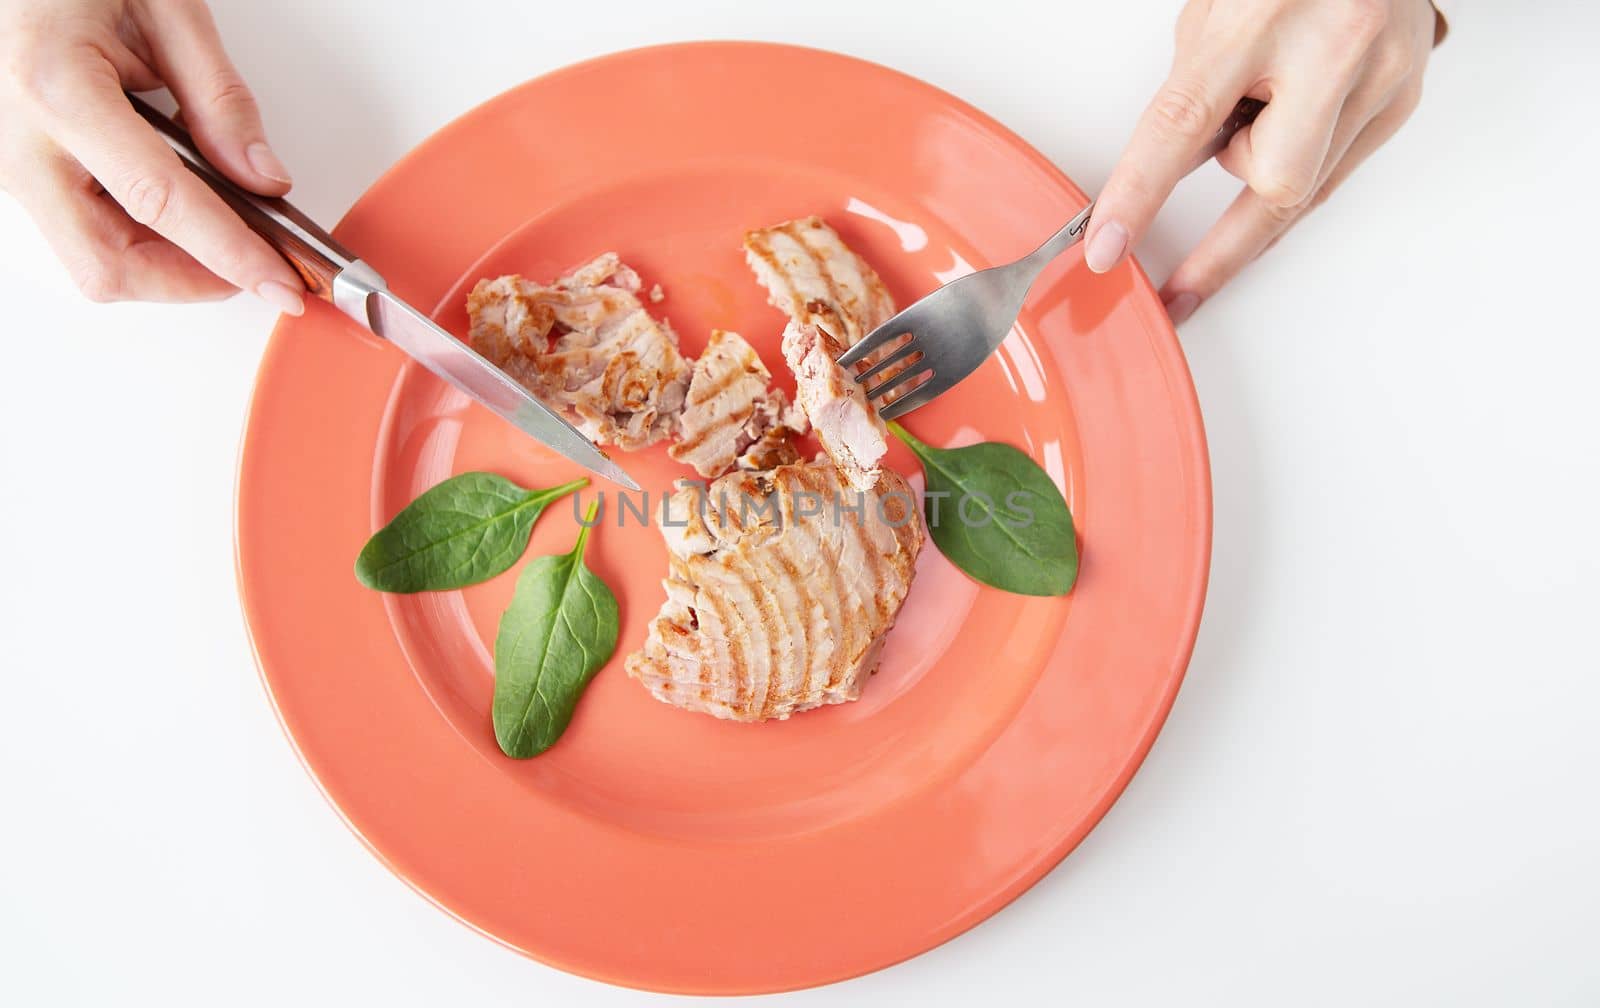
<svg viewBox="0 0 1600 1008">
<path fill-rule="evenodd" d="M 827 333 L 834 357 L 894 314 L 883 280 L 822 218 L 746 234 L 744 258 L 774 307 Z"/>
</svg>

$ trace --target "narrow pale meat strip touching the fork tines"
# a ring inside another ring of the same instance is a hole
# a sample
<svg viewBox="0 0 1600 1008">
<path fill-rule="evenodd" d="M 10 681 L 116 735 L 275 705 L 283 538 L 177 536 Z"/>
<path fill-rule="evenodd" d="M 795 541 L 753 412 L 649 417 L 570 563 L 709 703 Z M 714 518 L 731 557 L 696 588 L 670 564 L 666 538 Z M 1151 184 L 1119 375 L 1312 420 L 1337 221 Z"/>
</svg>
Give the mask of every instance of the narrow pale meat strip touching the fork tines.
<svg viewBox="0 0 1600 1008">
<path fill-rule="evenodd" d="M 811 421 L 816 440 L 856 490 L 872 490 L 888 453 L 888 427 L 867 402 L 866 389 L 834 362 L 821 326 L 789 323 L 784 360 L 795 373 L 795 402 Z"/>
</svg>

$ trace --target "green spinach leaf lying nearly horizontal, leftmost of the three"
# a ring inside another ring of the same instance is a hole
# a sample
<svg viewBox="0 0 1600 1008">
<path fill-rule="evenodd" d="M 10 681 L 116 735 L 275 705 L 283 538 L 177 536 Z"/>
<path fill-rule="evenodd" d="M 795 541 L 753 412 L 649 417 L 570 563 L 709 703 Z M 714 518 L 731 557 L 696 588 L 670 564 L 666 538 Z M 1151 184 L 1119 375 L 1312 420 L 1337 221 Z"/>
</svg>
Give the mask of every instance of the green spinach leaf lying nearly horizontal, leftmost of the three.
<svg viewBox="0 0 1600 1008">
<path fill-rule="evenodd" d="M 366 541 L 355 579 L 379 592 L 443 592 L 488 581 L 528 549 L 546 506 L 587 485 L 523 490 L 493 472 L 450 477 Z"/>
</svg>

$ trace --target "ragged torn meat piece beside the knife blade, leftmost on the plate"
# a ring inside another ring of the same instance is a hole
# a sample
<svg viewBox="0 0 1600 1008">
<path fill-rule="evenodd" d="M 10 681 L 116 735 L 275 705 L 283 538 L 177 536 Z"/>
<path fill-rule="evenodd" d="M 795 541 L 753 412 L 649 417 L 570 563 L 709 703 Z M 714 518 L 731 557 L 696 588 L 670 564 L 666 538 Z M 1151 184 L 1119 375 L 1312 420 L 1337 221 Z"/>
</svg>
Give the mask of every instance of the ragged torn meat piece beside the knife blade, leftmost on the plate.
<svg viewBox="0 0 1600 1008">
<path fill-rule="evenodd" d="M 606 253 L 546 286 L 480 280 L 472 347 L 565 411 L 597 445 L 643 448 L 677 432 L 690 384 L 678 338 L 638 301 L 640 280 Z"/>
</svg>

